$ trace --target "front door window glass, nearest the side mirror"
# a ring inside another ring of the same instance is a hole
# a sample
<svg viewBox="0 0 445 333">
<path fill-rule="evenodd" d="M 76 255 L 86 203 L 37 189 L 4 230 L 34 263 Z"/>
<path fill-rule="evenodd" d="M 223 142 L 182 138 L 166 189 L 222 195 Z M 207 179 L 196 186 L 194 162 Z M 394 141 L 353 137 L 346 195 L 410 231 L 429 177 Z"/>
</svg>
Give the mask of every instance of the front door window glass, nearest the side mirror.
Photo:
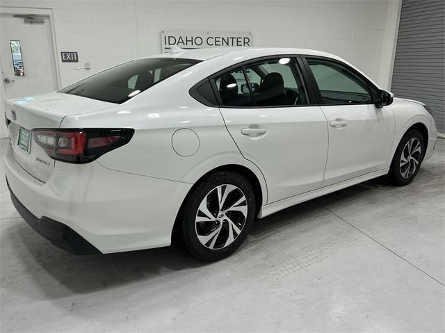
<svg viewBox="0 0 445 333">
<path fill-rule="evenodd" d="M 307 59 L 323 104 L 372 104 L 368 83 L 348 67 L 327 60 Z"/>
</svg>

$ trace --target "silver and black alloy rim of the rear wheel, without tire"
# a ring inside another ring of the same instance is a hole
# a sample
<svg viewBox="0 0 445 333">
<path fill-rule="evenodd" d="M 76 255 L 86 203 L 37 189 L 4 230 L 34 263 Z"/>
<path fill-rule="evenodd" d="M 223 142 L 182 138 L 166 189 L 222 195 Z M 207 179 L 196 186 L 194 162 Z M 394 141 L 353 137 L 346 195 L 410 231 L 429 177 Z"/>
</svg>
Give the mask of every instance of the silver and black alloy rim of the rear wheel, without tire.
<svg viewBox="0 0 445 333">
<path fill-rule="evenodd" d="M 220 250 L 243 231 L 248 203 L 243 191 L 232 184 L 216 186 L 204 197 L 196 213 L 195 232 L 202 245 Z"/>
</svg>

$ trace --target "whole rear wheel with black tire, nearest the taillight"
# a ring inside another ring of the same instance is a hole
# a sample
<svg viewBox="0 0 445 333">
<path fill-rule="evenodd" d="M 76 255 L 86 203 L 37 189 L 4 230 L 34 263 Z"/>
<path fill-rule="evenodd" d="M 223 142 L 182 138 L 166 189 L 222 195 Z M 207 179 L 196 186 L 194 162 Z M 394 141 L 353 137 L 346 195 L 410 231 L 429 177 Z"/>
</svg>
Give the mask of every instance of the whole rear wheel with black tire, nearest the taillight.
<svg viewBox="0 0 445 333">
<path fill-rule="evenodd" d="M 254 190 L 236 172 L 216 172 L 193 188 L 179 216 L 181 243 L 188 254 L 216 261 L 236 251 L 255 213 Z"/>
</svg>

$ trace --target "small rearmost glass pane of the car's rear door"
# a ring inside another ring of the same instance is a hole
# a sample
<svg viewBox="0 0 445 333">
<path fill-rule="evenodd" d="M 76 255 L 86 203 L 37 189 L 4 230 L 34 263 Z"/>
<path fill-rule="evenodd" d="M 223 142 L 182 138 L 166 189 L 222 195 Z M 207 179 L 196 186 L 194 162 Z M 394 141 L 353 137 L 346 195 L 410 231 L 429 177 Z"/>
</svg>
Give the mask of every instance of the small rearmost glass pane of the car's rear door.
<svg viewBox="0 0 445 333">
<path fill-rule="evenodd" d="M 252 96 L 241 67 L 218 76 L 215 83 L 223 106 L 253 106 Z"/>
</svg>

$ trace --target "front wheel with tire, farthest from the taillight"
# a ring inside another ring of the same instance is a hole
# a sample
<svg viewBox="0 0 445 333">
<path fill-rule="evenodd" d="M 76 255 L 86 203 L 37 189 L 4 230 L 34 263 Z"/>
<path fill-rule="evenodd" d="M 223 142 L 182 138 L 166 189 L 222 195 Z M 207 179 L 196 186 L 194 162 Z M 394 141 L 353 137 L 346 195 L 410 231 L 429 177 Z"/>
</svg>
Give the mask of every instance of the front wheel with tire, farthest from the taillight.
<svg viewBox="0 0 445 333">
<path fill-rule="evenodd" d="M 423 136 L 417 129 L 408 131 L 398 144 L 389 168 L 389 181 L 396 186 L 410 184 L 419 172 L 425 155 Z"/>
</svg>

